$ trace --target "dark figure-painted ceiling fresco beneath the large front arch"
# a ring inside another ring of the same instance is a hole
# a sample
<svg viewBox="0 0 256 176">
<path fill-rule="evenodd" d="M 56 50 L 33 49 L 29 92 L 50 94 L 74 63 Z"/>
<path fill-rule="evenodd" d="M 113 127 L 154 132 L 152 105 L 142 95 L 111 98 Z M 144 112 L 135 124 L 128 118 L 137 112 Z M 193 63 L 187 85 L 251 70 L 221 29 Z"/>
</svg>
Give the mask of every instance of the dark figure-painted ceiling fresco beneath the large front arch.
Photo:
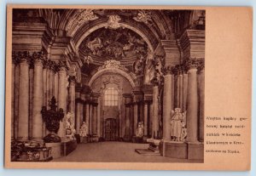
<svg viewBox="0 0 256 176">
<path fill-rule="evenodd" d="M 136 32 L 127 28 L 100 28 L 81 43 L 80 50 L 90 56 L 106 60 L 123 60 L 147 54 L 148 45 Z"/>
</svg>

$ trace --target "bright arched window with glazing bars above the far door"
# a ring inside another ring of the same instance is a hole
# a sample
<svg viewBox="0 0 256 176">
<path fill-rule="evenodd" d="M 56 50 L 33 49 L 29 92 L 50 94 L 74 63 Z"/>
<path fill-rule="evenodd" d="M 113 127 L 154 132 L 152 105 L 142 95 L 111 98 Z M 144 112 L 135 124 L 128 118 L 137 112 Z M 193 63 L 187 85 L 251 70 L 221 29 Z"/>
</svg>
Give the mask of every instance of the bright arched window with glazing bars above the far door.
<svg viewBox="0 0 256 176">
<path fill-rule="evenodd" d="M 107 88 L 104 94 L 104 105 L 118 106 L 119 92 L 115 88 Z"/>
</svg>

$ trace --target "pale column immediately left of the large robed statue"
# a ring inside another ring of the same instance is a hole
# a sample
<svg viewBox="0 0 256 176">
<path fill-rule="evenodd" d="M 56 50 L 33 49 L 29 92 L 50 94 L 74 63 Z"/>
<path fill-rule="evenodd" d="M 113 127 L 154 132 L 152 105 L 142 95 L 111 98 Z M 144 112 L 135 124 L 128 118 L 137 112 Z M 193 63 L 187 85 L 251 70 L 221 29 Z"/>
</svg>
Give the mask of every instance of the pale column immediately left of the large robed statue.
<svg viewBox="0 0 256 176">
<path fill-rule="evenodd" d="M 164 77 L 163 96 L 163 139 L 171 140 L 171 113 L 172 113 L 172 75 L 167 72 Z"/>
</svg>

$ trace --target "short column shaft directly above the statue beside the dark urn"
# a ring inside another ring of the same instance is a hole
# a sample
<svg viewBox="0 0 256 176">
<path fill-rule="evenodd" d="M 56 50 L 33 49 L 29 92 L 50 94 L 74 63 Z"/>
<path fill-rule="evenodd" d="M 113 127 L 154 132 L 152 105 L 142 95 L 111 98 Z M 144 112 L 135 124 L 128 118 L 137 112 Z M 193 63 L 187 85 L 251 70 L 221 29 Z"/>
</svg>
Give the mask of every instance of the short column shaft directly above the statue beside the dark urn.
<svg viewBox="0 0 256 176">
<path fill-rule="evenodd" d="M 68 88 L 68 96 L 69 96 L 69 105 L 68 111 L 73 112 L 75 115 L 75 97 L 76 97 L 76 79 L 75 77 L 69 77 L 69 88 Z"/>
</svg>

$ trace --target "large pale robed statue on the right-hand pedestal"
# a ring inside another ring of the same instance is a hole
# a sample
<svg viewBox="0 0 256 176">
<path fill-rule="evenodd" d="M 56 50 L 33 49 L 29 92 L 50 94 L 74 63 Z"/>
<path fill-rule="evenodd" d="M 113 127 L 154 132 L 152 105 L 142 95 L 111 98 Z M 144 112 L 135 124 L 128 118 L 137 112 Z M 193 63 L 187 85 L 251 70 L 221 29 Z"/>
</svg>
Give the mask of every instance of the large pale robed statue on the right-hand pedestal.
<svg viewBox="0 0 256 176">
<path fill-rule="evenodd" d="M 171 139 L 172 141 L 183 141 L 187 135 L 185 128 L 186 111 L 181 112 L 180 108 L 172 111 L 171 117 Z"/>
</svg>

